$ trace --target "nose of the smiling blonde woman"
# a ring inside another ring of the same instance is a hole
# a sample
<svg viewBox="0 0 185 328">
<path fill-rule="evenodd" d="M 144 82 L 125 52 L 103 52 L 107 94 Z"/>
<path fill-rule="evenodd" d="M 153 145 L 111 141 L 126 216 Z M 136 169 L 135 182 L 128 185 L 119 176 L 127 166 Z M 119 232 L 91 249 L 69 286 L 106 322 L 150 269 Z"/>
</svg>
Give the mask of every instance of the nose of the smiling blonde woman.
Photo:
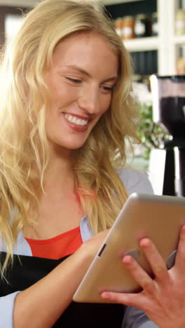
<svg viewBox="0 0 185 328">
<path fill-rule="evenodd" d="M 86 86 L 78 95 L 78 106 L 88 114 L 100 111 L 100 90 L 97 86 Z"/>
</svg>

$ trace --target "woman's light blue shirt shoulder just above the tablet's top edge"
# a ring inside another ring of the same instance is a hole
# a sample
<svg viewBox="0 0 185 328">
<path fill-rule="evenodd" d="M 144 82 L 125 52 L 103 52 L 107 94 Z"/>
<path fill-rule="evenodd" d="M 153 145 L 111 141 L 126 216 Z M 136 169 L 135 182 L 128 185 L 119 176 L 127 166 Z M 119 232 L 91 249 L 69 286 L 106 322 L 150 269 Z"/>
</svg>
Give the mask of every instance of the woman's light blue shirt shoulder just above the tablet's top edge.
<svg viewBox="0 0 185 328">
<path fill-rule="evenodd" d="M 125 188 L 130 193 L 153 193 L 151 182 L 145 172 L 134 168 L 117 170 Z"/>
</svg>

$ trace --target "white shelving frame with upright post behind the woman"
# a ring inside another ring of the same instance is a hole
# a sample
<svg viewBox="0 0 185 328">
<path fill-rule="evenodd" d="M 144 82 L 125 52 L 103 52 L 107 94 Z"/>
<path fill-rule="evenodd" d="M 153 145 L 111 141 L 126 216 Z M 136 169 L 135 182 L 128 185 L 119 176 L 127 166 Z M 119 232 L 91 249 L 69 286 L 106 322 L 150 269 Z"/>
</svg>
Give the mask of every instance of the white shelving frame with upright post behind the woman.
<svg viewBox="0 0 185 328">
<path fill-rule="evenodd" d="M 103 0 L 102 2 L 104 5 L 115 5 L 126 1 Z M 124 41 L 125 47 L 130 52 L 157 50 L 160 75 L 175 74 L 179 47 L 185 45 L 185 35 L 174 34 L 174 20 L 179 4 L 180 0 L 157 0 L 159 35 Z"/>
</svg>

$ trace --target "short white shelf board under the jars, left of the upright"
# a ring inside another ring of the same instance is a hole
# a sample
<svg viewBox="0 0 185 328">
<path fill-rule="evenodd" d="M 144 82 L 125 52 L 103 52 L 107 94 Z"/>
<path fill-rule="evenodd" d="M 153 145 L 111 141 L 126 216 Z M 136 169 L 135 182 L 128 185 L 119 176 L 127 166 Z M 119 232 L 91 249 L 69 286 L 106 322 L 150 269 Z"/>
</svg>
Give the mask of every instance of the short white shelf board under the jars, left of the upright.
<svg viewBox="0 0 185 328">
<path fill-rule="evenodd" d="M 147 51 L 158 50 L 159 38 L 158 36 L 149 36 L 146 38 L 123 40 L 123 44 L 128 51 Z"/>
</svg>

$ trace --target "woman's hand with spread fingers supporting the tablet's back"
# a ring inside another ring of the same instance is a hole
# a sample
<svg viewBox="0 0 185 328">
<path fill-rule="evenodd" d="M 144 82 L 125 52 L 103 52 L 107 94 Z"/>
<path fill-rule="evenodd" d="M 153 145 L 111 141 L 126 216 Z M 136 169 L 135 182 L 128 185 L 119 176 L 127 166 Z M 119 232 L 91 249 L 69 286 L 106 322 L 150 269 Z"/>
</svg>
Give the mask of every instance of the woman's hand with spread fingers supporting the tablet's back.
<svg viewBox="0 0 185 328">
<path fill-rule="evenodd" d="M 138 294 L 103 292 L 102 299 L 141 308 L 160 328 L 184 328 L 185 226 L 181 228 L 175 264 L 169 271 L 151 240 L 144 238 L 140 246 L 155 278 L 150 278 L 132 257 L 126 256 L 123 258 L 123 264 L 143 288 L 142 292 Z"/>
</svg>

